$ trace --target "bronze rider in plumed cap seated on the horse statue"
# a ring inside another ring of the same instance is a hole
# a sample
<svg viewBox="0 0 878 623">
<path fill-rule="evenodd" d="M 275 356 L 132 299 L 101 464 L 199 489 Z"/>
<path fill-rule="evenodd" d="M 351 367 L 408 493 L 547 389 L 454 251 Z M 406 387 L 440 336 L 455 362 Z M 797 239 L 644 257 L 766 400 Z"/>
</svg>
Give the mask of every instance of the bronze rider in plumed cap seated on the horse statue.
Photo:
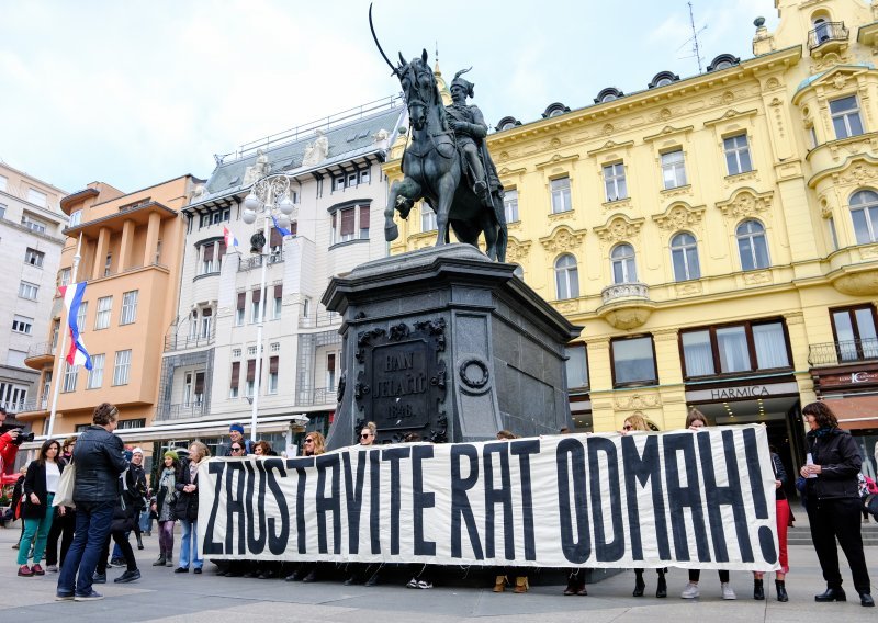
<svg viewBox="0 0 878 623">
<path fill-rule="evenodd" d="M 485 148 L 484 138 L 487 136 L 487 124 L 482 116 L 482 111 L 476 105 L 466 105 L 466 98 L 473 97 L 475 84 L 461 78 L 470 69 L 463 69 L 454 75 L 451 81 L 452 104 L 446 106 L 448 125 L 454 131 L 458 149 L 462 161 L 466 163 L 464 173 L 470 179 L 475 195 L 486 206 L 492 205 L 492 192 L 502 192 L 497 169 Z M 487 177 L 485 175 L 487 173 Z"/>
</svg>

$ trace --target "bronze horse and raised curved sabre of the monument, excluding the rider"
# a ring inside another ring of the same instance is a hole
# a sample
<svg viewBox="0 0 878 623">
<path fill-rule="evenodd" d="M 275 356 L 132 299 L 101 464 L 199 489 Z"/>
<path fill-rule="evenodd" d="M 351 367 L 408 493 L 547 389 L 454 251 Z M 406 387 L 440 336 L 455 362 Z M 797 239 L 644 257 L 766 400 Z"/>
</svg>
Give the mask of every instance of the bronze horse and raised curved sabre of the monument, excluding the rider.
<svg viewBox="0 0 878 623">
<path fill-rule="evenodd" d="M 370 8 L 371 25 L 371 8 Z M 372 29 L 374 36 L 374 29 Z M 449 227 L 461 242 L 479 247 L 479 236 L 485 235 L 485 253 L 492 260 L 506 260 L 506 217 L 502 190 L 489 194 L 489 206 L 485 205 L 464 179 L 461 154 L 454 132 L 446 116 L 446 107 L 439 93 L 436 76 L 427 64 L 427 50 L 406 63 L 399 54 L 399 65 L 394 67 L 375 37 L 384 60 L 403 87 L 412 139 L 403 154 L 402 182 L 391 185 L 390 200 L 384 209 L 384 238 L 395 240 L 399 229 L 393 222 L 394 211 L 403 218 L 415 202 L 427 200 L 436 212 L 436 245 L 449 242 Z"/>
</svg>

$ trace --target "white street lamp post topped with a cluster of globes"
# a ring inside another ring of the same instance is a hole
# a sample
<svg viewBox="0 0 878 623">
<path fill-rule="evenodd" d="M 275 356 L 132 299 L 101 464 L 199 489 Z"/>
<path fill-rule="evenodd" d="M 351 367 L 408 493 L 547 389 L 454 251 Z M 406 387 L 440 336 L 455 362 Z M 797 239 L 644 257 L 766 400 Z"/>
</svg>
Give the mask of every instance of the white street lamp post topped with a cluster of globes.
<svg viewBox="0 0 878 623">
<path fill-rule="evenodd" d="M 247 225 L 256 223 L 258 215 L 261 213 L 263 217 L 263 231 L 262 231 L 262 248 L 259 249 L 261 258 L 261 279 L 259 291 L 259 318 L 256 331 L 256 377 L 254 385 L 254 399 L 251 404 L 250 414 L 250 440 L 256 441 L 256 427 L 257 427 L 257 412 L 259 410 L 259 392 L 261 389 L 261 375 L 262 375 L 262 327 L 266 321 L 266 308 L 268 307 L 266 299 L 266 269 L 269 260 L 269 239 L 271 234 L 272 220 L 277 220 L 278 225 L 283 228 L 290 227 L 290 215 L 295 209 L 293 201 L 290 197 L 290 177 L 283 173 L 274 175 L 266 175 L 254 182 L 250 186 L 250 193 L 244 200 L 244 214 L 241 219 Z M 273 212 L 278 212 L 275 217 Z M 251 249 L 254 251 L 254 249 Z"/>
</svg>

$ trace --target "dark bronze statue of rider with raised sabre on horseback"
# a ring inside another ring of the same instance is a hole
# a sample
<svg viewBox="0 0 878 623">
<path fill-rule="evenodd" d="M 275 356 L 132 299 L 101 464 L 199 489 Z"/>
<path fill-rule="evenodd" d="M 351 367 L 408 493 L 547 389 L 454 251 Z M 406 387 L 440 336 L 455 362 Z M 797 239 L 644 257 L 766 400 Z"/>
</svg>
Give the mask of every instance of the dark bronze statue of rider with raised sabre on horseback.
<svg viewBox="0 0 878 623">
<path fill-rule="evenodd" d="M 372 26 L 371 7 L 369 24 Z M 426 49 L 409 63 L 399 54 L 394 67 L 381 49 L 374 27 L 372 36 L 403 87 L 412 133 L 403 154 L 404 179 L 391 185 L 384 209 L 384 238 L 390 241 L 399 236 L 393 222 L 395 211 L 407 218 L 415 203 L 425 200 L 436 212 L 437 246 L 449 242 L 449 227 L 458 240 L 476 248 L 484 233 L 487 257 L 505 261 L 503 185 L 485 146 L 487 124 L 482 111 L 466 104 L 474 84 L 461 76 L 469 69 L 454 76 L 452 104 L 446 106 Z"/>
</svg>

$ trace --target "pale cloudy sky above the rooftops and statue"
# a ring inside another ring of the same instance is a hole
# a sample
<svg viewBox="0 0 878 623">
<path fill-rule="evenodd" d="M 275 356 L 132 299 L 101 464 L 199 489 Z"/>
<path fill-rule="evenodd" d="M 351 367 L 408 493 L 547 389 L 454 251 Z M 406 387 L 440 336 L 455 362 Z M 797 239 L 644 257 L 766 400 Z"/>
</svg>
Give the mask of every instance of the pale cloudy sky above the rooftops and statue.
<svg viewBox="0 0 878 623">
<path fill-rule="evenodd" d="M 693 0 L 703 67 L 750 58 L 773 0 Z M 431 9 L 431 7 L 434 9 Z M 399 91 L 369 32 L 368 0 L 0 0 L 0 159 L 65 191 L 125 192 L 213 154 Z M 387 55 L 426 47 L 459 69 L 492 125 L 552 102 L 633 92 L 698 72 L 685 0 L 374 0 Z M 706 27 L 705 27 L 706 26 Z"/>
</svg>

